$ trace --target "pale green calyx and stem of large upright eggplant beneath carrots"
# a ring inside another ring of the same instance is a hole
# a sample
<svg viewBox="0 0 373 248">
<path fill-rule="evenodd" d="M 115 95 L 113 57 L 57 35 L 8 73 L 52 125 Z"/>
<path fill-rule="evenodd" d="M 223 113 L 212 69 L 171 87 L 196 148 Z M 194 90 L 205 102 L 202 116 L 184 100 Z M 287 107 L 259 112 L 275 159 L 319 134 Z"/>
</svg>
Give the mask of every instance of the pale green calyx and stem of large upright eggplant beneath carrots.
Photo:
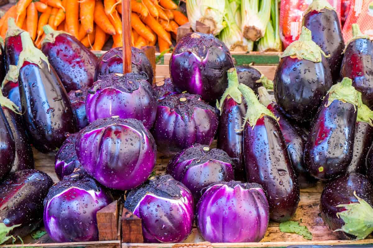
<svg viewBox="0 0 373 248">
<path fill-rule="evenodd" d="M 32 42 L 32 39 L 28 32 L 21 33 L 21 41 L 23 50 L 18 57 L 18 71 L 22 68 L 22 65 L 25 61 L 36 64 L 40 68 L 44 61 L 47 63 L 48 70 L 50 71 L 50 64 L 48 62 L 47 56 L 34 46 L 34 42 Z"/>
</svg>

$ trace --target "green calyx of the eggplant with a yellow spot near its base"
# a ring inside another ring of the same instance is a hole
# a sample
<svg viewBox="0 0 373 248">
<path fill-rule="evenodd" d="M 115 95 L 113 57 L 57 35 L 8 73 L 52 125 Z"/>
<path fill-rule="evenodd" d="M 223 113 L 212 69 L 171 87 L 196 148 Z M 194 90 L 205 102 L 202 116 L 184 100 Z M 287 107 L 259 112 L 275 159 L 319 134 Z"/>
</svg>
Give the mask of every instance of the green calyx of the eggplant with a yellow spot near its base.
<svg viewBox="0 0 373 248">
<path fill-rule="evenodd" d="M 344 77 L 342 82 L 330 87 L 327 94 L 329 94 L 329 99 L 326 107 L 332 104 L 334 100 L 351 103 L 354 105 L 355 110 L 361 105 L 358 91 L 352 86 L 352 80 L 348 77 Z"/>
</svg>

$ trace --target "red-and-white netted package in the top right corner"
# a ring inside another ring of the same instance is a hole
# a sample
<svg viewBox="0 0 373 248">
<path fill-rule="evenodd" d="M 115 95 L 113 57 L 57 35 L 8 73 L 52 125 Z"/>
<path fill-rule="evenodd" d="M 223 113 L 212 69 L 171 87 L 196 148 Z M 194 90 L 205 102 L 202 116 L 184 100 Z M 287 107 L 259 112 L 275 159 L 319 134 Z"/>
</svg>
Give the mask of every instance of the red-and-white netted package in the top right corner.
<svg viewBox="0 0 373 248">
<path fill-rule="evenodd" d="M 352 38 L 352 24 L 359 25 L 361 33 L 369 35 L 373 38 L 373 4 L 369 8 L 371 0 L 350 0 L 350 10 L 348 12 L 347 20 L 343 26 L 342 33 L 345 42 Z"/>
</svg>

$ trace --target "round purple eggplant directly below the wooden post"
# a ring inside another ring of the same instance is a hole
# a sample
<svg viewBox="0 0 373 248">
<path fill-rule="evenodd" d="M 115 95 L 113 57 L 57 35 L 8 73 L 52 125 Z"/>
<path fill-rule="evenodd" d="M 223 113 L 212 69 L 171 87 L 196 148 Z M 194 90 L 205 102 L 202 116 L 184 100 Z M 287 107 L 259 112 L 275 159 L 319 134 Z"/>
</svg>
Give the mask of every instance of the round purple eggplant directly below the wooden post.
<svg viewBox="0 0 373 248">
<path fill-rule="evenodd" d="M 88 89 L 85 99 L 88 121 L 119 116 L 141 120 L 145 128 L 150 129 L 156 119 L 157 99 L 145 79 L 135 73 L 100 76 Z"/>
</svg>

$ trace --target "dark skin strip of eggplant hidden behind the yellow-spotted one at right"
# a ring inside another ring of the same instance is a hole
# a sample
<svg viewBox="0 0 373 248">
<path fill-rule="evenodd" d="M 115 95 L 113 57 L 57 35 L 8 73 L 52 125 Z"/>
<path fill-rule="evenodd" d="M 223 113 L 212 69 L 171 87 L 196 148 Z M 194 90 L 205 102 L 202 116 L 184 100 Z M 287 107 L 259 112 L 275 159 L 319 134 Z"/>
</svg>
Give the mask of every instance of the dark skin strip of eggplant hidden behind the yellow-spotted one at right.
<svg viewBox="0 0 373 248">
<path fill-rule="evenodd" d="M 347 173 L 366 174 L 365 162 L 373 141 L 373 127 L 366 122 L 356 122 L 354 152 L 352 161 L 347 167 Z"/>
</svg>

